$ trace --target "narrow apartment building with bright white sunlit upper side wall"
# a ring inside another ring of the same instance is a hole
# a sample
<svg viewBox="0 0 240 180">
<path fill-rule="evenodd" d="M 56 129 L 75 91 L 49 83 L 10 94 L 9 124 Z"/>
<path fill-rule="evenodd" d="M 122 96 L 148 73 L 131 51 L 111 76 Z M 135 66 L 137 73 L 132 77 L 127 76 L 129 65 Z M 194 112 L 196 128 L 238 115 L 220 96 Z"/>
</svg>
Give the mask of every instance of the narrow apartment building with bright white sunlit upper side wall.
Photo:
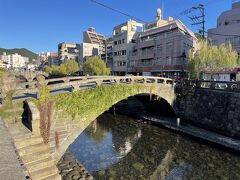
<svg viewBox="0 0 240 180">
<path fill-rule="evenodd" d="M 129 20 L 113 28 L 113 67 L 115 75 L 124 75 L 128 71 L 129 55 L 137 36 L 143 31 L 143 24 Z"/>
</svg>

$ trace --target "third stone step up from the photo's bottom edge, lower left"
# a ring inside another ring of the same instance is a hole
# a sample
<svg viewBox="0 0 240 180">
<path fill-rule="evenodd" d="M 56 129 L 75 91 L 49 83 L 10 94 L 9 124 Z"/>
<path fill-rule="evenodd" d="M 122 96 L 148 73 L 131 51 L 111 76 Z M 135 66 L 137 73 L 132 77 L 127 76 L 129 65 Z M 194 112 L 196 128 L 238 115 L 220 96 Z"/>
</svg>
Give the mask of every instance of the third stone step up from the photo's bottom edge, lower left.
<svg viewBox="0 0 240 180">
<path fill-rule="evenodd" d="M 21 156 L 21 159 L 25 164 L 27 164 L 27 163 L 39 161 L 41 159 L 45 159 L 47 157 L 49 157 L 49 150 L 44 150 L 44 151 L 40 151 L 32 154 L 26 154 Z"/>
</svg>

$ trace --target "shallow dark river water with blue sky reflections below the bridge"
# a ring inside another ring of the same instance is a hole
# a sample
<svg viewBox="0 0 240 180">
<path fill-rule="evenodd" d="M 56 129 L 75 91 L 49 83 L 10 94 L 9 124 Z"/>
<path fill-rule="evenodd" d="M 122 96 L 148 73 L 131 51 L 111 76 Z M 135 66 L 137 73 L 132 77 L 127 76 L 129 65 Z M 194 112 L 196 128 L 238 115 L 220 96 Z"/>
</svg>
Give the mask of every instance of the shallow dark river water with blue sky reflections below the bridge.
<svg viewBox="0 0 240 180">
<path fill-rule="evenodd" d="M 240 154 L 105 113 L 69 151 L 96 179 L 240 179 Z"/>
</svg>

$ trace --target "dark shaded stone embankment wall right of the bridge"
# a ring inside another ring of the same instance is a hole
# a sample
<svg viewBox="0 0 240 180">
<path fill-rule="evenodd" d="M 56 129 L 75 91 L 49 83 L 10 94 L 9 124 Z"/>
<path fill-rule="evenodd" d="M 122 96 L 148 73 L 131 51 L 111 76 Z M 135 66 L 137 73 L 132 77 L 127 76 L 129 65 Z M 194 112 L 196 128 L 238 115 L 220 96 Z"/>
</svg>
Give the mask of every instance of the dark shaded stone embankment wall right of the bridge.
<svg viewBox="0 0 240 180">
<path fill-rule="evenodd" d="M 240 139 L 240 93 L 195 89 L 177 101 L 184 122 Z"/>
</svg>

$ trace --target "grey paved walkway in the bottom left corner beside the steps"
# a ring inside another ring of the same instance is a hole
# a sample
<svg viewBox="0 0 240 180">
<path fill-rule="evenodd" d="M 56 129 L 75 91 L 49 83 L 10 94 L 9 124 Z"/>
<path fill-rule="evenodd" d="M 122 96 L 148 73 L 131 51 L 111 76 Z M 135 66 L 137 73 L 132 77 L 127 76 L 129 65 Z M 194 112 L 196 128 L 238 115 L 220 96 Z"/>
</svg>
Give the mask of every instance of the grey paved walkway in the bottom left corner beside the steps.
<svg viewBox="0 0 240 180">
<path fill-rule="evenodd" d="M 15 152 L 13 139 L 0 117 L 0 179 L 25 180 L 26 177 Z"/>
</svg>

